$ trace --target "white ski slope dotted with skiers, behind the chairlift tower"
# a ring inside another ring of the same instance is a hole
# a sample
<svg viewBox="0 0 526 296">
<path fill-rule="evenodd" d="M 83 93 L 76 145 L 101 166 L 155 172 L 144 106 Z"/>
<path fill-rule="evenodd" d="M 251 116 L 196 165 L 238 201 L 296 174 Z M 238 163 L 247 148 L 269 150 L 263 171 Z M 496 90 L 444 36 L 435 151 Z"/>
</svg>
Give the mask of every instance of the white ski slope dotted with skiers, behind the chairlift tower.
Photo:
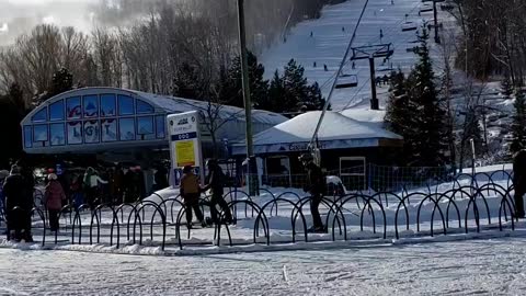
<svg viewBox="0 0 526 296">
<path fill-rule="evenodd" d="M 309 82 L 318 82 L 327 98 L 364 3 L 365 0 L 347 0 L 341 4 L 328 5 L 320 19 L 305 21 L 293 27 L 286 42 L 278 41 L 263 53 L 261 61 L 265 66 L 266 78 L 271 79 L 275 69 L 283 69 L 288 60 L 294 58 L 305 67 Z M 369 0 L 353 46 L 392 43 L 395 54 L 391 59 L 386 62 L 381 58 L 376 59 L 377 77 L 389 75 L 391 66 L 395 70 L 400 68 L 409 72 L 416 61 L 415 55 L 407 50 L 415 46 L 416 33 L 402 32 L 402 24 L 409 21 L 420 26 L 424 21 L 431 22 L 433 12 L 419 15 L 423 5 L 428 4 L 420 0 L 393 0 L 393 4 L 391 0 Z M 444 16 L 447 16 L 446 13 L 439 11 L 439 18 Z M 380 30 L 384 35 L 381 38 Z M 433 44 L 433 35 L 430 44 Z M 432 46 L 432 55 L 436 57 L 435 66 L 439 68 L 439 49 Z M 323 65 L 327 65 L 328 71 L 323 69 Z M 343 72 L 357 75 L 358 86 L 354 89 L 335 90 L 331 101 L 332 109 L 334 111 L 350 107 L 368 109 L 370 99 L 368 60 L 356 60 L 355 69 L 352 61 L 347 61 Z M 377 88 L 380 109 L 385 106 L 387 90 L 388 86 Z"/>
</svg>

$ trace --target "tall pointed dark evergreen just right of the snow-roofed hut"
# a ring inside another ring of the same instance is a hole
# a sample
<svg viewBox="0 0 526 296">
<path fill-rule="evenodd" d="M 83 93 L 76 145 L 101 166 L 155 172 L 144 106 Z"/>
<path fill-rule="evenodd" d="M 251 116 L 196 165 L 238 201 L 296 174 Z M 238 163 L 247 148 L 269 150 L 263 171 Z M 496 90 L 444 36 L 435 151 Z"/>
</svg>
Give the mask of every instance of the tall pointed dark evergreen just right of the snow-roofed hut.
<svg viewBox="0 0 526 296">
<path fill-rule="evenodd" d="M 425 29 L 419 39 L 415 68 L 407 79 L 400 71 L 393 76 L 386 123 L 388 129 L 403 136 L 407 163 L 436 167 L 447 162 L 447 112 L 434 82 Z"/>
</svg>

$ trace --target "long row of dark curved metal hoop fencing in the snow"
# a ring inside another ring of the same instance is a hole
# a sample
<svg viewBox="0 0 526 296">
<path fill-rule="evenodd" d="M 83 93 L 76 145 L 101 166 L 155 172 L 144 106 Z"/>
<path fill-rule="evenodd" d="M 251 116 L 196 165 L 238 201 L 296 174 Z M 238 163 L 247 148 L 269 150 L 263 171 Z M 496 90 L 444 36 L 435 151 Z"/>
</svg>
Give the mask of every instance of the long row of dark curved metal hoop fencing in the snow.
<svg viewBox="0 0 526 296">
<path fill-rule="evenodd" d="M 506 227 L 514 230 L 516 218 L 514 217 L 515 203 L 512 195 L 514 187 L 511 179 L 512 174 L 505 170 L 491 173 L 479 172 L 474 175 L 462 173 L 444 183 L 427 182 L 426 186 L 414 192 L 402 186 L 400 192 L 355 192 L 327 196 L 320 202 L 320 209 L 323 212 L 321 213 L 322 218 L 333 241 L 348 240 L 348 235 L 352 234 L 348 230 L 353 225 L 361 232 L 366 231 L 367 228 L 375 234 L 374 238 L 384 239 L 388 236 L 400 239 L 401 231 L 414 231 L 433 237 L 437 234 L 480 232 L 493 229 L 493 227 L 496 229 L 496 226 L 501 231 Z M 232 224 L 236 225 L 239 221 L 239 215 L 244 212 L 244 219 L 249 221 L 249 229 L 252 231 L 252 243 L 263 243 L 258 239 L 261 235 L 264 237 L 265 244 L 273 243 L 271 232 L 273 219 L 277 219 L 275 221 L 290 230 L 293 243 L 298 239 L 305 242 L 311 241 L 307 231 L 310 213 L 306 215 L 305 212 L 308 210 L 306 205 L 310 203 L 311 197 L 302 197 L 295 192 L 274 194 L 266 189 L 262 189 L 262 191 L 267 193 L 271 198 L 261 201 L 261 204 L 256 198 L 239 190 L 232 190 L 224 195 L 232 212 Z M 35 206 L 32 208 L 31 215 L 35 221 L 42 221 L 42 227 L 35 229 L 42 231 L 42 246 L 45 246 L 48 235 L 48 217 L 45 205 L 42 204 L 41 194 L 35 191 Z M 88 224 L 90 244 L 103 243 L 121 248 L 124 227 L 126 228 L 127 243 L 144 244 L 146 235 L 149 246 L 158 243 L 164 250 L 169 228 L 170 234 L 174 235 L 175 241 L 169 240 L 168 243 L 174 243 L 180 249 L 192 243 L 201 243 L 201 241 L 190 240 L 192 231 L 199 231 L 199 228 L 194 229 L 184 219 L 186 210 L 191 209 L 187 208 L 180 195 L 169 198 L 163 198 L 159 194 L 152 194 L 152 196 L 159 198 L 122 205 L 106 203 L 94 208 L 90 208 L 88 204 L 78 208 L 72 205 L 64 206 L 58 214 L 59 220 L 64 217 L 60 229 L 71 231 L 70 240 L 67 241 L 72 244 L 81 244 L 82 240 L 85 240 L 88 234 L 84 234 L 85 229 L 82 230 L 83 226 L 85 228 Z M 203 209 L 209 206 L 207 198 L 209 200 L 209 196 L 204 196 L 199 201 Z M 241 208 L 238 208 L 239 206 Z M 22 214 L 22 212 L 24 209 L 20 207 L 11 209 L 12 215 Z M 69 219 L 67 218 L 68 214 Z M 7 216 L 9 217 L 9 215 Z M 284 217 L 286 217 L 285 220 L 283 220 Z M 232 236 L 236 236 L 238 228 L 225 223 L 222 209 L 219 213 L 219 219 L 221 223 L 214 226 L 214 237 L 210 232 L 209 240 L 205 239 L 203 243 L 220 246 L 221 236 L 226 236 L 228 244 L 233 246 Z M 492 223 L 495 225 L 493 226 Z M 11 230 L 9 225 L 8 239 L 10 239 Z M 247 228 L 245 225 L 247 223 L 243 223 Z M 187 228 L 187 240 L 181 236 L 181 227 L 184 226 Z M 260 232 L 261 230 L 263 232 Z M 340 236 L 336 236 L 336 231 Z M 61 236 L 64 237 L 64 232 Z M 286 236 L 285 240 L 288 241 L 288 235 Z M 321 239 L 330 240 L 329 236 L 321 236 Z M 274 241 L 274 243 L 276 242 L 277 240 Z M 58 231 L 55 232 L 54 243 L 58 243 Z"/>
</svg>

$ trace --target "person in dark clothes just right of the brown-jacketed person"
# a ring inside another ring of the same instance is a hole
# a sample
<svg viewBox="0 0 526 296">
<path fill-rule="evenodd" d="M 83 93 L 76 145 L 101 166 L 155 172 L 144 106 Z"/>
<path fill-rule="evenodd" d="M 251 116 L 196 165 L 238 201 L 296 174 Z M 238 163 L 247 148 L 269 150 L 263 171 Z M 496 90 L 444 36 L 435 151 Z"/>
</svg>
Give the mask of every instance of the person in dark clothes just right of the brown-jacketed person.
<svg viewBox="0 0 526 296">
<path fill-rule="evenodd" d="M 232 223 L 232 214 L 230 213 L 230 208 L 228 207 L 225 198 L 222 198 L 225 174 L 222 173 L 221 167 L 219 167 L 217 160 L 215 159 L 208 159 L 208 161 L 206 161 L 206 167 L 208 168 L 208 184 L 204 186 L 202 191 L 211 190 L 211 220 L 215 224 L 219 223 L 219 217 L 216 208 L 216 205 L 219 205 L 221 210 L 225 212 L 225 223 Z"/>
</svg>

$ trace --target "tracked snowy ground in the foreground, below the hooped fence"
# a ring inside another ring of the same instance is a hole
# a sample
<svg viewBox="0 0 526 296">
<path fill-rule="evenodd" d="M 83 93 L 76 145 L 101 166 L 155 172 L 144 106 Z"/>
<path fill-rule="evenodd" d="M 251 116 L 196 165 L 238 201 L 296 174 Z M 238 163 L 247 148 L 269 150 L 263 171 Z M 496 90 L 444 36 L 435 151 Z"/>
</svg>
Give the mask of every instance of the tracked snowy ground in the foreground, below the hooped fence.
<svg viewBox="0 0 526 296">
<path fill-rule="evenodd" d="M 523 295 L 526 237 L 199 257 L 0 250 L 0 295 Z"/>
</svg>

